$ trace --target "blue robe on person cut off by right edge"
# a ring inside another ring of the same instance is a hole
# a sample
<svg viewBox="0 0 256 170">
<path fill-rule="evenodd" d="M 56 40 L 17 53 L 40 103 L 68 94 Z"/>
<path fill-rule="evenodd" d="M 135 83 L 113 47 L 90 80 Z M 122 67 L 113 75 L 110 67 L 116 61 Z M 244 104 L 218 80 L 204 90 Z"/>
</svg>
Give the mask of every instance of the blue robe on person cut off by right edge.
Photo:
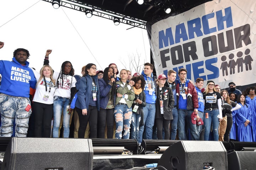
<svg viewBox="0 0 256 170">
<path fill-rule="evenodd" d="M 250 97 L 247 97 L 245 98 L 245 102 L 251 106 L 252 137 L 253 137 L 253 142 L 256 142 L 256 97 L 254 97 L 253 99 L 251 99 Z"/>
</svg>

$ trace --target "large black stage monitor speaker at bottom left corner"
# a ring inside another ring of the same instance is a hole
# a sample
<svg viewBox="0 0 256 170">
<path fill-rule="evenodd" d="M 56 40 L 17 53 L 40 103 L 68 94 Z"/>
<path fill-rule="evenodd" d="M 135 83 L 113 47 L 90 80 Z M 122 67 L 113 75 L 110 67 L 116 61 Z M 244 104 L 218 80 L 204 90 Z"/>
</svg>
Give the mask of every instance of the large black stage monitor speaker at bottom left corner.
<svg viewBox="0 0 256 170">
<path fill-rule="evenodd" d="M 12 138 L 1 170 L 91 170 L 91 139 Z"/>
</svg>

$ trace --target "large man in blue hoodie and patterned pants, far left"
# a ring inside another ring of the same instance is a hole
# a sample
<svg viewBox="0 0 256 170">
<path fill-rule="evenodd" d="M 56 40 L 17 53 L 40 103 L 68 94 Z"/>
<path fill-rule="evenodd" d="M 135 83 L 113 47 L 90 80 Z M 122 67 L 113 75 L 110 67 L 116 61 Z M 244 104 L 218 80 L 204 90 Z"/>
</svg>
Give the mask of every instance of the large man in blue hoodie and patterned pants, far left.
<svg viewBox="0 0 256 170">
<path fill-rule="evenodd" d="M 0 42 L 0 48 L 4 44 Z M 28 50 L 18 48 L 12 61 L 0 60 L 2 75 L 0 89 L 1 137 L 11 137 L 15 121 L 15 137 L 26 137 L 31 115 L 30 87 L 36 87 L 36 77 L 28 67 Z"/>
</svg>

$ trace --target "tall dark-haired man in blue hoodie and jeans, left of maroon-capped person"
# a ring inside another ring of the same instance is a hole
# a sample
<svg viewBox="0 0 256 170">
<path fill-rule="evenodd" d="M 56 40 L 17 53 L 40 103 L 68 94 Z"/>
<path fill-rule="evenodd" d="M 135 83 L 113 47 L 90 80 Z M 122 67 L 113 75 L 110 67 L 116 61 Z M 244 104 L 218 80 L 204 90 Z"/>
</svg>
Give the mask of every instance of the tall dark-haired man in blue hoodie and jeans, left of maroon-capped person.
<svg viewBox="0 0 256 170">
<path fill-rule="evenodd" d="M 139 136 L 142 136 L 144 131 L 144 139 L 152 139 L 153 126 L 155 122 L 156 77 L 153 76 L 153 69 L 154 66 L 147 62 L 144 64 L 144 69 L 142 71 L 142 76 L 145 79 L 144 92 L 146 94 L 146 106 L 143 107 L 144 126 L 140 126 Z M 141 137 L 140 139 L 142 140 Z M 141 143 L 142 141 L 138 142 Z"/>
</svg>

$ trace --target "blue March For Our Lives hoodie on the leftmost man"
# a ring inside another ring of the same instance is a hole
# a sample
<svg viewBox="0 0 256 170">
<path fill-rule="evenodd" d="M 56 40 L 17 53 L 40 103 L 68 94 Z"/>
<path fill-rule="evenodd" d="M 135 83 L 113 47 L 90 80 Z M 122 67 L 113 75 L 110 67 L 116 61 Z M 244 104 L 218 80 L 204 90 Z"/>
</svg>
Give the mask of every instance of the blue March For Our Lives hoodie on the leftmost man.
<svg viewBox="0 0 256 170">
<path fill-rule="evenodd" d="M 15 57 L 12 61 L 0 61 L 0 74 L 2 75 L 0 93 L 15 97 L 29 97 L 30 87 L 36 87 L 36 77 L 31 68 L 28 67 L 29 62 L 25 62 L 25 66 L 21 65 Z"/>
</svg>

